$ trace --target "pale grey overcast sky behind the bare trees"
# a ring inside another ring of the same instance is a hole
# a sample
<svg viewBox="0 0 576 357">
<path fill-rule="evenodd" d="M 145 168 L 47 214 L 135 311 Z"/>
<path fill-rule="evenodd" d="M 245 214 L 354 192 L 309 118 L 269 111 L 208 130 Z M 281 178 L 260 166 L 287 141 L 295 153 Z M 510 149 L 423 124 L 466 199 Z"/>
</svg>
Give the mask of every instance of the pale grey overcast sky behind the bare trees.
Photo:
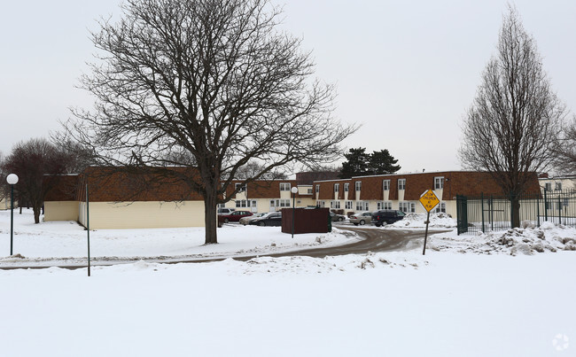
<svg viewBox="0 0 576 357">
<path fill-rule="evenodd" d="M 90 29 L 118 0 L 22 0 L 0 14 L 0 151 L 48 137 L 72 106 L 94 48 Z M 336 116 L 362 124 L 346 147 L 388 149 L 401 172 L 460 169 L 460 123 L 494 54 L 504 0 L 290 0 L 283 27 L 337 86 Z M 576 111 L 576 1 L 518 0 L 553 89 Z"/>
</svg>

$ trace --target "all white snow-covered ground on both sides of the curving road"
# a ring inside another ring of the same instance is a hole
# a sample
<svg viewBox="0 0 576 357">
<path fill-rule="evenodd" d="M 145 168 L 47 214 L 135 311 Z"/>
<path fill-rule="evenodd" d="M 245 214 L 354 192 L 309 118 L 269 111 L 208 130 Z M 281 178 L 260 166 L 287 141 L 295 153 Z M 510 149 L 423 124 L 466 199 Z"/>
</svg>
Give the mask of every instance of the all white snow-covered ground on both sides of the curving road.
<svg viewBox="0 0 576 357">
<path fill-rule="evenodd" d="M 25 257 L 16 260 L 85 257 L 86 232 L 77 225 L 16 218 L 14 252 Z M 423 223 L 416 215 L 382 229 Z M 432 217 L 432 226 L 454 222 Z M 0 229 L 5 257 L 9 213 L 0 212 Z M 215 246 L 201 245 L 202 229 L 101 230 L 90 240 L 93 256 L 135 258 L 357 239 L 335 229 L 292 243 L 278 231 L 228 226 Z M 576 229 L 547 223 L 486 236 L 432 235 L 425 256 L 420 245 L 326 259 L 144 259 L 93 267 L 90 277 L 85 268 L 0 270 L 0 355 L 576 355 L 574 238 Z"/>
</svg>

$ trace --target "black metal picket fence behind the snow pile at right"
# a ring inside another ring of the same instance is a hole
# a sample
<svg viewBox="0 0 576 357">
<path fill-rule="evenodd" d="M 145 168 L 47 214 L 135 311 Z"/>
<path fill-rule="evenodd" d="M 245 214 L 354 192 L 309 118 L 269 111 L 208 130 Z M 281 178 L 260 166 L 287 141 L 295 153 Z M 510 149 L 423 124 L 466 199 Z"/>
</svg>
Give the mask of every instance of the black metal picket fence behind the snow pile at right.
<svg viewBox="0 0 576 357">
<path fill-rule="evenodd" d="M 537 227 L 544 221 L 576 227 L 576 190 L 519 196 L 518 210 L 513 209 L 514 202 L 510 196 L 456 196 L 458 234 L 506 230 L 514 221 Z"/>
</svg>

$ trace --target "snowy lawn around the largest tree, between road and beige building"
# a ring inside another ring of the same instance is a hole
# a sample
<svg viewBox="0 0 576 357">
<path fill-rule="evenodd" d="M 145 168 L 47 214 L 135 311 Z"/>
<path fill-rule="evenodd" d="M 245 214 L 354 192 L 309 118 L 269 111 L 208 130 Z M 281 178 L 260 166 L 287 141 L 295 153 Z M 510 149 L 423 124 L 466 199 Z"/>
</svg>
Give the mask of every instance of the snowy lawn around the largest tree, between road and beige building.
<svg viewBox="0 0 576 357">
<path fill-rule="evenodd" d="M 88 255 L 87 231 L 74 221 L 34 224 L 30 211 L 14 214 L 10 257 L 10 212 L 0 211 L 0 268 L 15 265 L 82 265 Z M 5 237 L 5 239 L 4 239 Z M 90 256 L 103 260 L 169 260 L 253 256 L 315 246 L 346 244 L 353 234 L 333 229 L 328 234 L 284 234 L 279 227 L 225 224 L 219 244 L 204 245 L 204 229 L 100 229 L 90 231 Z"/>
</svg>

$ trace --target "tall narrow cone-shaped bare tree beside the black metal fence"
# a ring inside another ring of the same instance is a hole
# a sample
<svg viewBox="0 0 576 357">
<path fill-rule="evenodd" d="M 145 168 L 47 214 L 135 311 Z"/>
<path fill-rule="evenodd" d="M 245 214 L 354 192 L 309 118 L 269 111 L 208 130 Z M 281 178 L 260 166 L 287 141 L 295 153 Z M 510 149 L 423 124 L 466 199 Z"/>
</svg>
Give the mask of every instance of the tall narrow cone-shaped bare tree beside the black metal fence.
<svg viewBox="0 0 576 357">
<path fill-rule="evenodd" d="M 532 35 L 509 6 L 496 54 L 488 62 L 476 97 L 463 121 L 460 159 L 464 167 L 486 170 L 512 199 L 519 225 L 518 195 L 549 167 L 565 117 L 550 88 Z"/>
</svg>

